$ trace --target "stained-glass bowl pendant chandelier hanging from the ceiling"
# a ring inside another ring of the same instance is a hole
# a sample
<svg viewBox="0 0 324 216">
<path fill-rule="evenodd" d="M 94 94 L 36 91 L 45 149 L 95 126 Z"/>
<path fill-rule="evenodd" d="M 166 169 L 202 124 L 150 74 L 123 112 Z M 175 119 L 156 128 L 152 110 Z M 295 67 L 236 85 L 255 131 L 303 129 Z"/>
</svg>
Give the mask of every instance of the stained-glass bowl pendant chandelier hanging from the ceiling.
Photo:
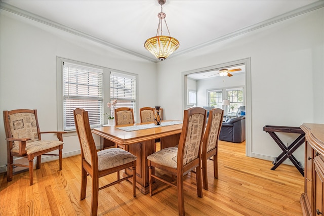
<svg viewBox="0 0 324 216">
<path fill-rule="evenodd" d="M 144 47 L 158 60 L 163 61 L 179 48 L 179 41 L 176 38 L 171 37 L 167 25 L 167 21 L 165 19 L 166 14 L 163 13 L 162 6 L 166 3 L 166 0 L 157 0 L 157 2 L 158 4 L 161 5 L 161 12 L 157 14 L 159 21 L 158 21 L 156 36 L 147 39 L 144 43 Z M 163 19 L 166 23 L 169 36 L 163 35 L 163 30 L 162 30 Z"/>
</svg>

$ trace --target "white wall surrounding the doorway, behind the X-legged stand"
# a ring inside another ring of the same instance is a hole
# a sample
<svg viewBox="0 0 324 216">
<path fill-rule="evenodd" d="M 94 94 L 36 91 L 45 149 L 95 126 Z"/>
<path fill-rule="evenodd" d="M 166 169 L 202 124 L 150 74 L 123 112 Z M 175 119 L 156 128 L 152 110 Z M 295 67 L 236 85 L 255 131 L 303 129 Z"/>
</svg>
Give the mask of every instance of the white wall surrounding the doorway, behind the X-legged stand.
<svg viewBox="0 0 324 216">
<path fill-rule="evenodd" d="M 181 119 L 183 72 L 249 57 L 252 156 L 272 160 L 281 150 L 263 126 L 324 123 L 323 8 L 158 63 L 159 103 L 168 119 Z M 304 162 L 304 145 L 294 155 Z"/>
</svg>

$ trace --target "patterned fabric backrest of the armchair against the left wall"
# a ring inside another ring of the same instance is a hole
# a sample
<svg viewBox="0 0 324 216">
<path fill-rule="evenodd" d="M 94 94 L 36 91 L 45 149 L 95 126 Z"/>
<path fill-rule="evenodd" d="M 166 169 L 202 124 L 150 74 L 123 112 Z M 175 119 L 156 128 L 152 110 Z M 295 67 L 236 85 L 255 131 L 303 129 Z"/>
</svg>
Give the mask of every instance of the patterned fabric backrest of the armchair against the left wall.
<svg viewBox="0 0 324 216">
<path fill-rule="evenodd" d="M 38 141 L 37 124 L 35 115 L 32 113 L 16 113 L 9 115 L 9 125 L 13 138 L 30 138 L 27 143 Z M 18 141 L 13 147 L 18 147 Z M 19 152 L 19 150 L 18 150 Z"/>
</svg>

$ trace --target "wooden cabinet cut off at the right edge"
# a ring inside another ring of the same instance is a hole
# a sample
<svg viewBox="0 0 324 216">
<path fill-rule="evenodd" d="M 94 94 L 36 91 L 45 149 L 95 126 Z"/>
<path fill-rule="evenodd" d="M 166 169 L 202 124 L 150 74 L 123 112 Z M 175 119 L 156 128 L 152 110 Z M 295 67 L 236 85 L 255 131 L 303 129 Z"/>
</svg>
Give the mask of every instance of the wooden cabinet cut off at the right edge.
<svg viewBox="0 0 324 216">
<path fill-rule="evenodd" d="M 324 124 L 303 123 L 305 132 L 305 186 L 300 202 L 304 215 L 324 211 Z"/>
</svg>

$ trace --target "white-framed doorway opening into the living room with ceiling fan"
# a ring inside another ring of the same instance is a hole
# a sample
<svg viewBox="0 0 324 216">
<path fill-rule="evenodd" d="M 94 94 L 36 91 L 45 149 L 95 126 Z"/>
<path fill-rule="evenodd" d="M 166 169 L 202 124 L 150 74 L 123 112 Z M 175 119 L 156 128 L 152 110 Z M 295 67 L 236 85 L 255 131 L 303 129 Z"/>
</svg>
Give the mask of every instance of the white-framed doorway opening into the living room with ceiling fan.
<svg viewBox="0 0 324 216">
<path fill-rule="evenodd" d="M 220 75 L 221 69 L 227 69 L 230 75 Z M 193 106 L 224 107 L 222 99 L 227 99 L 229 92 L 242 89 L 243 104 L 246 107 L 246 155 L 252 156 L 251 131 L 251 59 L 241 59 L 205 68 L 182 72 L 182 108 Z M 212 98 L 213 97 L 213 98 Z M 234 104 L 234 103 L 233 103 Z"/>
</svg>

